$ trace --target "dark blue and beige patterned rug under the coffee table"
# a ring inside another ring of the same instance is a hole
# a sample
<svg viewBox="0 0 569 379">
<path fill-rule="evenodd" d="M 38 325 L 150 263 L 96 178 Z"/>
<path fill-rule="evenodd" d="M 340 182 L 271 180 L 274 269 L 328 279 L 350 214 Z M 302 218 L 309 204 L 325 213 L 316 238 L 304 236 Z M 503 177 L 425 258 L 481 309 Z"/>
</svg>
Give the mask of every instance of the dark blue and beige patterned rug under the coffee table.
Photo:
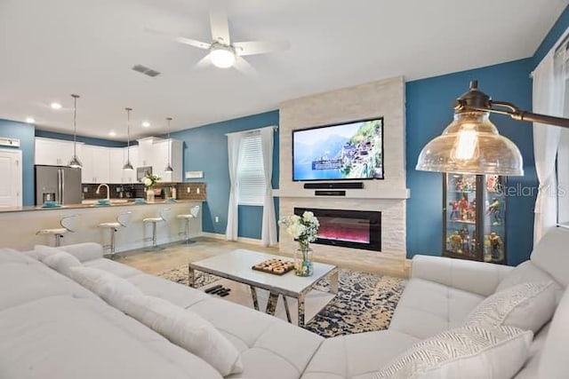
<svg viewBox="0 0 569 379">
<path fill-rule="evenodd" d="M 211 284 L 219 277 L 196 272 L 196 287 Z M 188 285 L 188 266 L 183 265 L 158 276 Z M 340 271 L 338 295 L 312 318 L 306 329 L 324 337 L 382 330 L 389 322 L 405 288 L 405 280 L 349 270 Z M 315 289 L 327 291 L 327 278 Z"/>
</svg>

